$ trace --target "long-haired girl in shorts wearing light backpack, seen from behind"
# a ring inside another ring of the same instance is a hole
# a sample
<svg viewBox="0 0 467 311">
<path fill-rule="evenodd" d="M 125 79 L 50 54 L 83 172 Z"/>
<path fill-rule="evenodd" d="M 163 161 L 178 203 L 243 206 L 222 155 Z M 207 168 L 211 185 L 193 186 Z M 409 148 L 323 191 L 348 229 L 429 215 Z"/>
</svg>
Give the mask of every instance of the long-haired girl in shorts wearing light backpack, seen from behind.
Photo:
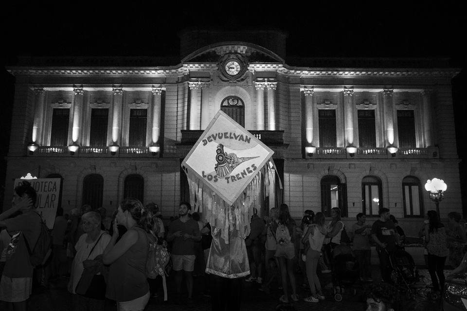
<svg viewBox="0 0 467 311">
<path fill-rule="evenodd" d="M 291 298 L 298 301 L 297 286 L 295 284 L 295 275 L 293 273 L 293 258 L 295 257 L 295 221 L 290 217 L 288 205 L 282 203 L 279 207 L 278 226 L 276 229 L 276 256 L 279 259 L 281 269 L 282 288 L 284 294 L 279 298 L 281 302 L 288 303 L 288 284 L 287 276 L 292 287 Z"/>
</svg>

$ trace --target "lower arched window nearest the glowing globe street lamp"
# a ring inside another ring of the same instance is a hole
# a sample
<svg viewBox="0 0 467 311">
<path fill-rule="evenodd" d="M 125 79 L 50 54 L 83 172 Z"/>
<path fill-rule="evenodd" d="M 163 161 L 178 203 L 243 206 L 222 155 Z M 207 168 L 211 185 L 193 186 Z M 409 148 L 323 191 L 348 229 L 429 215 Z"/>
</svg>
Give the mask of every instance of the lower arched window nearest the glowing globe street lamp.
<svg viewBox="0 0 467 311">
<path fill-rule="evenodd" d="M 407 176 L 402 180 L 402 196 L 404 198 L 404 217 L 423 217 L 422 192 L 418 178 Z"/>
</svg>

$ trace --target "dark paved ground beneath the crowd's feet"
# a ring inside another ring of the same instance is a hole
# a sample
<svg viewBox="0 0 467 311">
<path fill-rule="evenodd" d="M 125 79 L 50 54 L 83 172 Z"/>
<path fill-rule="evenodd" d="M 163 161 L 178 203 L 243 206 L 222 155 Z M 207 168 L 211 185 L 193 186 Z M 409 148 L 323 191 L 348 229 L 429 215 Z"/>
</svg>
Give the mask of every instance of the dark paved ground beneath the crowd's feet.
<svg viewBox="0 0 467 311">
<path fill-rule="evenodd" d="M 425 279 L 426 283 L 429 282 L 429 275 L 426 270 L 419 269 L 420 274 L 428 276 Z M 372 275 L 375 281 L 379 278 L 377 267 L 372 267 Z M 297 274 L 297 282 L 301 283 L 301 276 Z M 146 311 L 152 310 L 164 310 L 164 311 L 208 311 L 211 310 L 211 300 L 209 297 L 202 295 L 203 286 L 202 279 L 197 277 L 195 279 L 195 302 L 193 304 L 187 305 L 181 301 L 176 301 L 174 299 L 174 284 L 169 278 L 168 288 L 169 288 L 169 301 L 163 302 L 161 298 L 151 298 Z M 52 282 L 50 289 L 43 293 L 34 293 L 31 296 L 29 303 L 29 310 L 32 311 L 72 311 L 71 306 L 71 294 L 66 290 L 67 279 L 62 278 L 56 282 Z M 364 285 L 356 284 L 356 292 L 353 290 L 348 290 L 343 294 L 343 299 L 341 302 L 336 302 L 332 297 L 332 292 L 325 292 L 326 299 L 319 303 L 306 303 L 304 301 L 299 301 L 293 303 L 293 306 L 298 311 L 305 310 L 323 310 L 323 311 L 362 311 L 366 309 L 366 304 L 363 301 L 363 291 Z M 299 288 L 300 298 L 307 297 L 309 294 L 301 287 Z M 410 301 L 403 302 L 404 311 L 435 311 L 440 310 L 440 301 L 431 300 L 426 297 L 423 293 L 423 290 L 419 291 L 420 293 Z M 280 290 L 273 290 L 270 294 L 266 294 L 258 290 L 258 285 L 255 283 L 243 283 L 242 291 L 242 311 L 269 311 L 275 310 L 276 306 L 279 303 L 278 298 L 281 295 Z M 2 302 L 0 302 L 0 310 L 7 311 L 8 308 Z M 116 310 L 114 307 L 110 307 L 109 311 Z"/>
</svg>

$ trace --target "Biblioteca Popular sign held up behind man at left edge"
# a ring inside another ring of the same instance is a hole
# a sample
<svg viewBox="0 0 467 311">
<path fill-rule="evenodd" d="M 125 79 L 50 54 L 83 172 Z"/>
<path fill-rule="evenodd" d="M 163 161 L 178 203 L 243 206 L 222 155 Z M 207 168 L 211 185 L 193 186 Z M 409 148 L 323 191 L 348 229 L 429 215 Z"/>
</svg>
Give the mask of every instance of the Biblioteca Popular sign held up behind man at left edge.
<svg viewBox="0 0 467 311">
<path fill-rule="evenodd" d="M 21 184 L 24 179 L 15 179 L 15 187 Z M 47 227 L 52 229 L 57 212 L 58 198 L 60 196 L 60 178 L 37 178 L 28 179 L 27 182 L 36 190 L 37 213 L 45 220 Z"/>
</svg>

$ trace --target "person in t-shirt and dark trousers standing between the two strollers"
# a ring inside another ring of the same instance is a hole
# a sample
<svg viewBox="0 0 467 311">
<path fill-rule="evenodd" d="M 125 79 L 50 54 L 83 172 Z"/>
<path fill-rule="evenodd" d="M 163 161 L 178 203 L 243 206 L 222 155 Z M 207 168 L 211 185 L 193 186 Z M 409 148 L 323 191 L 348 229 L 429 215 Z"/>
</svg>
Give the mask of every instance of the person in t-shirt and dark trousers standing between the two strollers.
<svg viewBox="0 0 467 311">
<path fill-rule="evenodd" d="M 370 248 L 370 228 L 371 225 L 366 224 L 366 216 L 363 213 L 357 214 L 357 223 L 352 226 L 354 233 L 354 253 L 359 262 L 360 280 L 373 281 L 371 278 L 370 266 L 371 248 Z"/>
</svg>

